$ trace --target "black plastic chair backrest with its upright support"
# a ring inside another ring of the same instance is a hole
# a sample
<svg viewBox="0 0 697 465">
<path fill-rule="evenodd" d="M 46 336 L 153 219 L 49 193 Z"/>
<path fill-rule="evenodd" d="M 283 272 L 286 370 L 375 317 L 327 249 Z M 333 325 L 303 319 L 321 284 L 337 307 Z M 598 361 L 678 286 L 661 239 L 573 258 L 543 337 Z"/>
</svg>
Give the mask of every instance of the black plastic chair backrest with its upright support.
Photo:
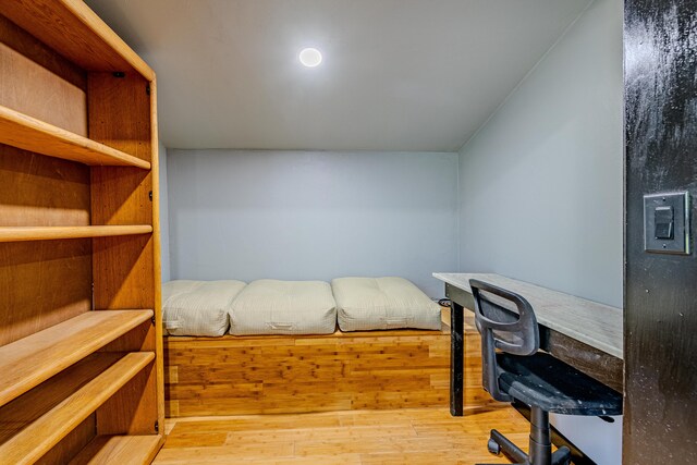
<svg viewBox="0 0 697 465">
<path fill-rule="evenodd" d="M 478 280 L 469 280 L 475 301 L 475 322 L 481 333 L 481 382 L 493 399 L 511 402 L 499 389 L 497 350 L 534 355 L 540 347 L 533 306 L 521 295 Z"/>
</svg>

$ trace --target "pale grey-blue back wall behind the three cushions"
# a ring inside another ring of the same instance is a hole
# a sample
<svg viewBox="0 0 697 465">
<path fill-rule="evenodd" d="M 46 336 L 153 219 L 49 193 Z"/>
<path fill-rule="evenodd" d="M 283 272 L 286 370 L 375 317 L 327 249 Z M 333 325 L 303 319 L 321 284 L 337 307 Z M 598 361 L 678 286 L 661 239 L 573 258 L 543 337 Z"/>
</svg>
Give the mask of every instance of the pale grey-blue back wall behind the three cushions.
<svg viewBox="0 0 697 465">
<path fill-rule="evenodd" d="M 172 279 L 456 269 L 457 154 L 168 150 Z"/>
</svg>

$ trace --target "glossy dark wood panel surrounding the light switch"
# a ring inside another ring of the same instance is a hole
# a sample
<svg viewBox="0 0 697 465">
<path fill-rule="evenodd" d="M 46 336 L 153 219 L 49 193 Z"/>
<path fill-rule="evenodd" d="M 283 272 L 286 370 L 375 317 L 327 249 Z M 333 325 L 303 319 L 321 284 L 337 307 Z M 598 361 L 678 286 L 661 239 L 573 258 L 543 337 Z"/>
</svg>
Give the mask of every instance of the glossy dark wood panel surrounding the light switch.
<svg viewBox="0 0 697 465">
<path fill-rule="evenodd" d="M 697 256 L 644 252 L 643 196 L 688 191 L 697 232 L 697 1 L 627 0 L 624 14 L 623 463 L 689 464 L 697 462 Z"/>
</svg>

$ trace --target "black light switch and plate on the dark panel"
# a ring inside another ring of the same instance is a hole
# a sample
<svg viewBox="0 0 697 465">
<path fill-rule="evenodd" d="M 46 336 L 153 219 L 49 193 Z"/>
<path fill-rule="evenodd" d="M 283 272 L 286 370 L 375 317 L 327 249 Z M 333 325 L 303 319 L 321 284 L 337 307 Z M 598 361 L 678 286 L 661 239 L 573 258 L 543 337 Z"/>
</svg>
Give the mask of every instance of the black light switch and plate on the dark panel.
<svg viewBox="0 0 697 465">
<path fill-rule="evenodd" d="M 660 254 L 689 254 L 689 193 L 644 196 L 644 249 Z"/>
</svg>

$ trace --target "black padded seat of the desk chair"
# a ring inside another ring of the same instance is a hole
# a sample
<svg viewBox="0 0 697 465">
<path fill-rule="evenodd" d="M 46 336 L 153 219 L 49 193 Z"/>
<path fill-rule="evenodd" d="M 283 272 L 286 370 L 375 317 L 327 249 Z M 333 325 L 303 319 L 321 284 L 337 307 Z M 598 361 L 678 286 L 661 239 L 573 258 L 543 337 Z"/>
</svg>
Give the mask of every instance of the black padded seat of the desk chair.
<svg viewBox="0 0 697 465">
<path fill-rule="evenodd" d="M 497 354 L 501 391 L 529 406 L 567 415 L 621 415 L 622 395 L 543 352 Z"/>
</svg>

